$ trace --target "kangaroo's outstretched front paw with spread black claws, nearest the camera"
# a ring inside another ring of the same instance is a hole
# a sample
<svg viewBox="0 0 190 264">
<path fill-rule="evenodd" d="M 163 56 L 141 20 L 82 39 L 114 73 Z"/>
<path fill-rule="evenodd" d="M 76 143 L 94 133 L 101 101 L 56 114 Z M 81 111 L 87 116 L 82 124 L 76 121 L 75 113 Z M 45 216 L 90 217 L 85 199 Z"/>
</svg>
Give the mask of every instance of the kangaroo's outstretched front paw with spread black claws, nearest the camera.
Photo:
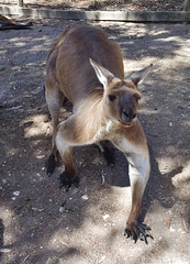
<svg viewBox="0 0 190 264">
<path fill-rule="evenodd" d="M 133 222 L 133 224 L 126 226 L 124 235 L 126 235 L 126 239 L 131 238 L 132 240 L 134 240 L 135 243 L 139 239 L 147 244 L 148 243 L 147 238 L 153 239 L 153 235 L 150 234 L 149 231 L 150 228 L 148 226 L 135 221 Z"/>
</svg>

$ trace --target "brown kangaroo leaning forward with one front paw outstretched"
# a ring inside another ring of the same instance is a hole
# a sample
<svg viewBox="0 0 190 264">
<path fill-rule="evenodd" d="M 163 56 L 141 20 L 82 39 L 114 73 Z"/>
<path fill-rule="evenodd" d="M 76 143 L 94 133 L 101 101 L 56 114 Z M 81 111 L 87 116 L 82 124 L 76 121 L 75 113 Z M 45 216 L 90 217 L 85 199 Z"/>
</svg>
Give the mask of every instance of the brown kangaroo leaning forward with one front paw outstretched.
<svg viewBox="0 0 190 264">
<path fill-rule="evenodd" d="M 127 158 L 132 207 L 125 235 L 134 242 L 153 238 L 150 228 L 139 222 L 141 204 L 149 177 L 149 153 L 137 119 L 141 92 L 137 84 L 153 65 L 124 76 L 118 43 L 109 41 L 101 29 L 80 25 L 67 29 L 47 58 L 46 102 L 53 121 L 52 153 L 47 175 L 54 173 L 57 150 L 65 164 L 60 187 L 78 186 L 72 164 L 72 147 L 109 140 Z M 72 114 L 59 122 L 59 110 L 67 98 Z M 58 123 L 59 122 L 59 123 Z"/>
</svg>

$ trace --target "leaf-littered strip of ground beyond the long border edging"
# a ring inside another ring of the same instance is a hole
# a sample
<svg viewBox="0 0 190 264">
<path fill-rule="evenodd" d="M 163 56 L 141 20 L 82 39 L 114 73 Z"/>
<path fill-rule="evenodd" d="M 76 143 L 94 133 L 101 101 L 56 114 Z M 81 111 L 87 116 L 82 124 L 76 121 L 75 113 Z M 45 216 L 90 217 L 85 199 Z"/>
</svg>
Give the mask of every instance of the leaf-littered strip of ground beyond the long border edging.
<svg viewBox="0 0 190 264">
<path fill-rule="evenodd" d="M 182 11 L 183 0 L 24 0 L 24 8 L 125 10 L 125 11 Z M 18 0 L 3 0 L 0 4 L 18 6 Z"/>
</svg>

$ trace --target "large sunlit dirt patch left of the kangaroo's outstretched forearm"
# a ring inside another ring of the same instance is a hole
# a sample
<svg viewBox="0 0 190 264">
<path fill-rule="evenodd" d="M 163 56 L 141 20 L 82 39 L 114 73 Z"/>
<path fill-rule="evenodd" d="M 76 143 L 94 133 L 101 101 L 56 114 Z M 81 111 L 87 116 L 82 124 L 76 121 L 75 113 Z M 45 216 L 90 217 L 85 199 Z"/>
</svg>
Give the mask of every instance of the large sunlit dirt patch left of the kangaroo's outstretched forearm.
<svg viewBox="0 0 190 264">
<path fill-rule="evenodd" d="M 91 243 L 104 241 L 110 238 L 112 230 L 123 232 L 126 215 L 131 210 L 131 187 L 112 187 L 108 196 L 102 197 L 103 202 L 112 200 L 112 208 L 105 207 L 99 210 L 99 205 L 89 205 L 87 212 L 83 215 L 83 221 L 80 227 L 72 227 L 70 223 L 64 228 L 57 229 L 47 240 L 44 240 L 44 246 L 51 251 L 74 249 L 88 249 Z M 62 220 L 63 221 L 63 220 Z M 74 232 L 80 240 L 74 240 Z M 87 239 L 90 235 L 90 240 Z"/>
</svg>

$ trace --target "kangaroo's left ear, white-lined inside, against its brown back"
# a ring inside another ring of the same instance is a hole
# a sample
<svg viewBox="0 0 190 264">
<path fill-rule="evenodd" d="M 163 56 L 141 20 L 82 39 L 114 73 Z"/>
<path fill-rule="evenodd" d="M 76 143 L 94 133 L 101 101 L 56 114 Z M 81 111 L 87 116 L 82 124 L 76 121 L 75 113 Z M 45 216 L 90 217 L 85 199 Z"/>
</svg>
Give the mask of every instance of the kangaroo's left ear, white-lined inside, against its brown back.
<svg viewBox="0 0 190 264">
<path fill-rule="evenodd" d="M 96 75 L 100 82 L 103 85 L 103 88 L 108 86 L 108 84 L 114 78 L 114 75 L 110 73 L 104 67 L 100 66 L 93 59 L 89 58 L 91 66 L 93 67 Z"/>
</svg>

